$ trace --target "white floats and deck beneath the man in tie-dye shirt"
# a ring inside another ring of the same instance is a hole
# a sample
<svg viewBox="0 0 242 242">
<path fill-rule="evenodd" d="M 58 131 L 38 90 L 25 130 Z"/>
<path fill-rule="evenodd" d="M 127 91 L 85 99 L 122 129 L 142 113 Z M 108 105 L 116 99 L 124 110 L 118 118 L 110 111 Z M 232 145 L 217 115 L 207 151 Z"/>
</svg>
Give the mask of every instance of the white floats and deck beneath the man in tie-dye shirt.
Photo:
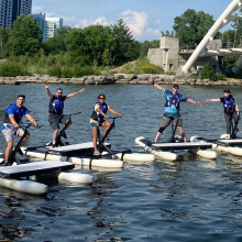
<svg viewBox="0 0 242 242">
<path fill-rule="evenodd" d="M 177 155 L 173 153 L 175 150 L 189 150 L 193 153 L 205 158 L 212 160 L 217 157 L 217 153 L 215 151 L 206 151 L 207 148 L 211 148 L 212 144 L 205 142 L 151 143 L 151 141 L 148 141 L 147 139 L 140 136 L 135 139 L 135 143 L 142 146 L 145 151 L 150 151 L 155 156 L 168 161 L 175 161 L 177 158 Z"/>
</svg>

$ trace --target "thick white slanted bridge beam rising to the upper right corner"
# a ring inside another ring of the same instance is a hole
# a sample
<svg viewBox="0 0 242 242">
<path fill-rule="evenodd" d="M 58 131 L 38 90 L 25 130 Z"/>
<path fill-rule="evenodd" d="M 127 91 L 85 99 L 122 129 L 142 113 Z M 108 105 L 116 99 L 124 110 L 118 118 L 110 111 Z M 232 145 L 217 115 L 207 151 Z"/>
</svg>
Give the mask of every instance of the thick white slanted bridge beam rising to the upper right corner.
<svg viewBox="0 0 242 242">
<path fill-rule="evenodd" d="M 232 15 L 233 12 L 235 12 L 238 9 L 242 7 L 242 0 L 233 0 L 229 7 L 226 9 L 226 11 L 220 15 L 220 18 L 215 22 L 212 28 L 208 31 L 208 33 L 205 35 L 200 44 L 197 46 L 193 55 L 189 57 L 189 59 L 186 62 L 186 64 L 182 67 L 182 70 L 184 73 L 188 73 L 190 67 L 194 65 L 194 63 L 197 61 L 197 58 L 201 55 L 201 53 L 205 51 L 206 46 L 211 42 L 217 34 L 217 32 L 227 25 L 229 22 L 234 20 L 234 15 Z"/>
</svg>

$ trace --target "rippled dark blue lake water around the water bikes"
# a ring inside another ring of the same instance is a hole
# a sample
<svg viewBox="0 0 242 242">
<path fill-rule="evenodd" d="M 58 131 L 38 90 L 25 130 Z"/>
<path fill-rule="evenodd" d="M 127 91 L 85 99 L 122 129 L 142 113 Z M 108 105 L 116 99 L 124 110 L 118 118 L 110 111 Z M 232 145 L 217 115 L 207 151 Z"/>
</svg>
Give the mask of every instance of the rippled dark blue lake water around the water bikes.
<svg viewBox="0 0 242 242">
<path fill-rule="evenodd" d="M 91 141 L 89 117 L 102 92 L 107 103 L 124 114 L 110 134 L 114 150 L 141 151 L 134 145 L 135 138 L 154 140 L 165 100 L 153 86 L 51 85 L 51 91 L 57 87 L 64 95 L 86 88 L 65 102 L 65 113 L 82 112 L 73 117 L 67 131 L 70 143 Z M 179 91 L 204 101 L 222 97 L 227 88 L 242 110 L 242 87 L 180 86 Z M 14 103 L 19 94 L 26 95 L 25 106 L 41 125 L 30 130 L 29 145 L 50 142 L 44 85 L 1 85 L 0 109 Z M 221 103 L 182 103 L 182 114 L 188 139 L 195 134 L 217 139 L 226 133 Z M 162 141 L 167 141 L 170 132 L 169 127 Z M 0 152 L 4 147 L 0 135 Z M 242 241 L 240 157 L 219 153 L 217 161 L 208 161 L 186 154 L 176 162 L 128 162 L 123 169 L 76 168 L 94 175 L 94 185 L 50 182 L 46 196 L 0 187 L 0 241 Z"/>
</svg>

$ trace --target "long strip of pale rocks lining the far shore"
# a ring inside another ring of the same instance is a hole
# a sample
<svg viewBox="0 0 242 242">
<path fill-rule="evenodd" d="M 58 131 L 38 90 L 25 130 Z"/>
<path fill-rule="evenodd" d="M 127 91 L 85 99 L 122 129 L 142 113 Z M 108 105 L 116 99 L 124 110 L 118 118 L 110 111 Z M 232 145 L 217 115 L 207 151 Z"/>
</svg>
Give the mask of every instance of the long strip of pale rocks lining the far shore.
<svg viewBox="0 0 242 242">
<path fill-rule="evenodd" d="M 150 75 L 150 74 L 114 74 L 113 76 L 84 76 L 80 78 L 58 78 L 51 76 L 16 76 L 0 77 L 0 85 L 19 85 L 25 82 L 35 84 L 81 84 L 81 85 L 109 85 L 109 84 L 129 84 L 129 85 L 147 85 L 147 77 L 154 79 L 157 84 L 163 85 L 213 85 L 213 86 L 242 86 L 241 79 L 227 79 L 210 81 L 209 79 L 195 79 L 189 75 L 168 76 L 168 75 Z"/>
</svg>

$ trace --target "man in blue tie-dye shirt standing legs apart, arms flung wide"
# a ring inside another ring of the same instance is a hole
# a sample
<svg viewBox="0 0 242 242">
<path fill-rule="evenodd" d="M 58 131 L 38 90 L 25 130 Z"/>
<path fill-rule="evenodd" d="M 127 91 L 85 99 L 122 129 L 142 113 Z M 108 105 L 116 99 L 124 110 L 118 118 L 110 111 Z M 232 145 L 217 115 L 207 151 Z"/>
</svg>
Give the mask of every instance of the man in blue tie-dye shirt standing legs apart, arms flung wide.
<svg viewBox="0 0 242 242">
<path fill-rule="evenodd" d="M 164 116 L 162 119 L 162 125 L 156 134 L 155 143 L 157 143 L 163 131 L 166 129 L 166 127 L 168 127 L 170 124 L 170 122 L 173 122 L 174 127 L 177 127 L 177 129 L 180 132 L 180 135 L 184 139 L 184 142 L 187 142 L 185 131 L 183 129 L 183 120 L 182 120 L 180 113 L 179 113 L 179 102 L 180 101 L 184 101 L 184 102 L 188 101 L 190 103 L 198 105 L 198 106 L 202 106 L 202 103 L 200 101 L 194 101 L 190 98 L 186 98 L 185 96 L 178 94 L 179 87 L 176 84 L 173 86 L 173 90 L 169 91 L 169 90 L 166 90 L 165 88 L 163 88 L 162 86 L 155 84 L 154 80 L 152 80 L 151 78 L 147 78 L 147 80 L 151 84 L 153 84 L 158 90 L 161 90 L 166 99 Z"/>
</svg>

